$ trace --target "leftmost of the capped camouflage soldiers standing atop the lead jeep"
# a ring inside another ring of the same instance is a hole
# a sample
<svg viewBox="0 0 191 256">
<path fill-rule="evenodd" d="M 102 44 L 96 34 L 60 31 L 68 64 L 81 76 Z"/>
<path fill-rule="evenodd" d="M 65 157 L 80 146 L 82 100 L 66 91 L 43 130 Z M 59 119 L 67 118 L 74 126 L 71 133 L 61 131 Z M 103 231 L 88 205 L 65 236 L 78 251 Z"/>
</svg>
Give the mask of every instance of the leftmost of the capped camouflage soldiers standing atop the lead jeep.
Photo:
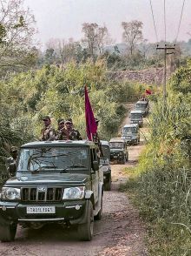
<svg viewBox="0 0 191 256">
<path fill-rule="evenodd" d="M 43 118 L 43 123 L 44 123 L 44 128 L 41 131 L 41 134 L 42 134 L 41 140 L 43 140 L 43 141 L 54 140 L 55 136 L 56 136 L 56 131 L 51 126 L 51 120 L 50 120 L 49 116 L 45 116 Z"/>
</svg>

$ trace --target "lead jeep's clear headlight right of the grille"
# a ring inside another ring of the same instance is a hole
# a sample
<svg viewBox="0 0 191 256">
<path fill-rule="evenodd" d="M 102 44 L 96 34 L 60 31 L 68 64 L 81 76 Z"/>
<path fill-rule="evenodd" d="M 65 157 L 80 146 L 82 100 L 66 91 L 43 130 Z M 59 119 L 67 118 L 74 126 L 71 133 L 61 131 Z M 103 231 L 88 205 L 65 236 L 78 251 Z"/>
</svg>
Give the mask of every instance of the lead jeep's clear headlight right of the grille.
<svg viewBox="0 0 191 256">
<path fill-rule="evenodd" d="M 84 191 L 84 186 L 65 188 L 63 192 L 63 199 L 82 199 L 84 197 Z"/>
</svg>

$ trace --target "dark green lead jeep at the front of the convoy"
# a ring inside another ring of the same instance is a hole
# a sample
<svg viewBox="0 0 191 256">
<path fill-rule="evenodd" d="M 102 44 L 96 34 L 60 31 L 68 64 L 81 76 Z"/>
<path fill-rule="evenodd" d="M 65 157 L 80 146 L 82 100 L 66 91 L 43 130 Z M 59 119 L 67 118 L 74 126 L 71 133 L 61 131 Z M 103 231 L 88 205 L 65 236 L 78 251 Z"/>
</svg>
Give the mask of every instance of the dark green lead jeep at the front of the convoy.
<svg viewBox="0 0 191 256">
<path fill-rule="evenodd" d="M 16 226 L 48 223 L 77 226 L 91 240 L 94 219 L 102 218 L 103 173 L 90 141 L 33 142 L 21 147 L 15 177 L 0 193 L 0 240 L 15 238 Z"/>
</svg>

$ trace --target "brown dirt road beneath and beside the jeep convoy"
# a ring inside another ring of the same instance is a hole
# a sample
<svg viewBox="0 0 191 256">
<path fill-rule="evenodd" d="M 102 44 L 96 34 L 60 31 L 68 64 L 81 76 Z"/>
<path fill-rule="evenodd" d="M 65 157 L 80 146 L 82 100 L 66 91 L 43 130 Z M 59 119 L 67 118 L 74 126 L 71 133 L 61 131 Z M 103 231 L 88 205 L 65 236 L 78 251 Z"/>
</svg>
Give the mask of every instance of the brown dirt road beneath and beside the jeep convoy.
<svg viewBox="0 0 191 256">
<path fill-rule="evenodd" d="M 128 120 L 124 120 L 126 123 Z M 129 161 L 126 165 L 112 165 L 112 189 L 104 192 L 103 217 L 95 221 L 94 238 L 81 242 L 76 229 L 63 229 L 49 225 L 40 230 L 18 227 L 16 240 L 0 243 L 0 255 L 10 256 L 134 256 L 147 255 L 144 246 L 145 230 L 138 212 L 118 188 L 128 177 L 122 170 L 136 165 L 143 145 L 129 147 Z"/>
</svg>

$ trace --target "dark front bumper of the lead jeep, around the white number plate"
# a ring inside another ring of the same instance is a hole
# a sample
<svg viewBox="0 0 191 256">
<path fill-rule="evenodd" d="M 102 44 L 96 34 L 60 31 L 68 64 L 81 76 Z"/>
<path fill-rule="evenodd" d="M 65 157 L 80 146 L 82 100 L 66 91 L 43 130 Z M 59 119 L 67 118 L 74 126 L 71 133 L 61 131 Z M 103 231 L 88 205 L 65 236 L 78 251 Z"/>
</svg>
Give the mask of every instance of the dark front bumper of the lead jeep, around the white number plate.
<svg viewBox="0 0 191 256">
<path fill-rule="evenodd" d="M 0 225 L 5 222 L 56 222 L 63 220 L 70 224 L 86 222 L 88 200 L 67 201 L 55 204 L 0 201 Z M 27 213 L 27 206 L 55 206 L 55 213 Z"/>
</svg>

